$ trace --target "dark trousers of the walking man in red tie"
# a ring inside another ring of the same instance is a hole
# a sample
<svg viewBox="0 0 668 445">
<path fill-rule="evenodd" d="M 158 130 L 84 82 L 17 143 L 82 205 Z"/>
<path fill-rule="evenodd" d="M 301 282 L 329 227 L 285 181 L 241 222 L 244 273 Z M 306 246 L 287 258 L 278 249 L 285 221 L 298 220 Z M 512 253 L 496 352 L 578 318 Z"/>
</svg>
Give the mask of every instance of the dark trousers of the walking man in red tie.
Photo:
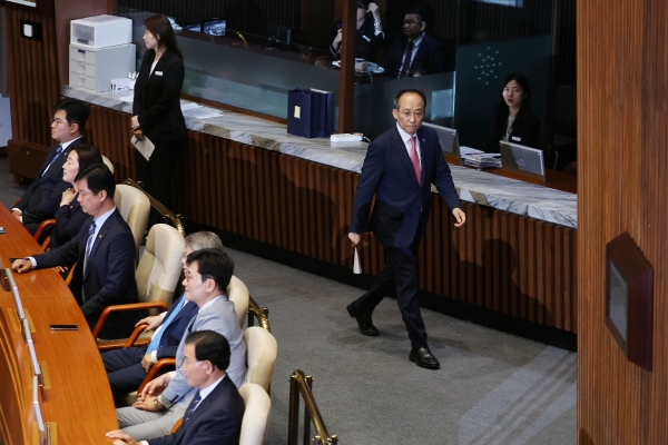
<svg viewBox="0 0 668 445">
<path fill-rule="evenodd" d="M 395 287 L 396 303 L 413 348 L 428 347 L 426 328 L 418 299 L 418 245 L 419 243 L 414 243 L 411 248 L 385 246 L 387 263 L 376 276 L 371 289 L 354 304 L 355 310 L 371 315 L 383 297 Z"/>
</svg>

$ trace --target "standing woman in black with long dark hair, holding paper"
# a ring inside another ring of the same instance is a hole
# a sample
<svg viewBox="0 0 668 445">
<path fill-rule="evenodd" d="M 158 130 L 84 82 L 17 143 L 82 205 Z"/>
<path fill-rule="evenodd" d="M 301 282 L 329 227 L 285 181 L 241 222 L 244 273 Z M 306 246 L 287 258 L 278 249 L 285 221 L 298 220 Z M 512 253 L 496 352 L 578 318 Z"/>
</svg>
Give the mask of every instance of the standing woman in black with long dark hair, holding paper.
<svg viewBox="0 0 668 445">
<path fill-rule="evenodd" d="M 144 20 L 146 53 L 135 85 L 130 127 L 155 145 L 150 160 L 137 150 L 137 179 L 146 191 L 171 207 L 171 169 L 186 142 L 186 121 L 180 110 L 184 59 L 166 16 Z M 139 137 L 139 136 L 138 136 Z"/>
</svg>

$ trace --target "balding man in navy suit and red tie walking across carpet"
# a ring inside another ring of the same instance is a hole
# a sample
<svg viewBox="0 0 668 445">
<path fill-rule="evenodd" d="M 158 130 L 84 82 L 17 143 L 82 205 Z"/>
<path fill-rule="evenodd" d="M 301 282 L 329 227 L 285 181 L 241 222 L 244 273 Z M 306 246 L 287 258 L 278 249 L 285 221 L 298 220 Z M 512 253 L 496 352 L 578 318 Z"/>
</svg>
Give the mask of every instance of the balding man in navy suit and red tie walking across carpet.
<svg viewBox="0 0 668 445">
<path fill-rule="evenodd" d="M 435 130 L 422 126 L 426 109 L 424 93 L 404 89 L 394 96 L 392 113 L 396 127 L 379 136 L 366 151 L 362 176 L 353 201 L 353 220 L 348 238 L 353 246 L 360 234 L 373 230 L 385 246 L 387 263 L 371 289 L 347 306 L 362 334 L 379 335 L 371 315 L 383 297 L 396 288 L 396 301 L 411 340 L 409 358 L 418 366 L 440 367 L 426 343 L 426 329 L 418 300 L 418 263 L 415 255 L 424 236 L 431 210 L 432 182 L 455 219 L 455 227 L 466 220 L 460 208 L 450 168 Z M 371 214 L 371 202 L 375 205 Z"/>
</svg>

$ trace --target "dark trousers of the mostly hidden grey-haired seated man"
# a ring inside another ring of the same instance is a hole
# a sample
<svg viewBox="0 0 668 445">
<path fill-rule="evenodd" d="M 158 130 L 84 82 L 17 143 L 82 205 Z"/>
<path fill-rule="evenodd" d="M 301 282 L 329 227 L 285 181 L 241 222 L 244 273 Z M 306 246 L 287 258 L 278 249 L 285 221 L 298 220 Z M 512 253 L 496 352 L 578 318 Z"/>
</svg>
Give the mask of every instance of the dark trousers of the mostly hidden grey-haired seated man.
<svg viewBox="0 0 668 445">
<path fill-rule="evenodd" d="M 115 395 L 137 390 L 146 370 L 141 359 L 146 355 L 146 346 L 134 346 L 102 353 L 102 363 L 107 370 L 107 378 Z"/>
</svg>

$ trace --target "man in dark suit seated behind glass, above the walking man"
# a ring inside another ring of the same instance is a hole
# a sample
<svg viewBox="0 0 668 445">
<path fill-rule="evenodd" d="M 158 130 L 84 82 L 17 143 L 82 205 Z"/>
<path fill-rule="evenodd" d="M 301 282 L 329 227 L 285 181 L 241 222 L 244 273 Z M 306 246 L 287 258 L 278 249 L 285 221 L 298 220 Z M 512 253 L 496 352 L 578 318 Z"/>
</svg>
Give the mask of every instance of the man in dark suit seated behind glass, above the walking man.
<svg viewBox="0 0 668 445">
<path fill-rule="evenodd" d="M 426 11 L 415 7 L 404 14 L 403 34 L 392 41 L 383 68 L 385 73 L 394 78 L 413 77 L 416 72 L 444 72 L 449 63 L 445 49 L 439 40 L 425 31 Z"/>
</svg>

